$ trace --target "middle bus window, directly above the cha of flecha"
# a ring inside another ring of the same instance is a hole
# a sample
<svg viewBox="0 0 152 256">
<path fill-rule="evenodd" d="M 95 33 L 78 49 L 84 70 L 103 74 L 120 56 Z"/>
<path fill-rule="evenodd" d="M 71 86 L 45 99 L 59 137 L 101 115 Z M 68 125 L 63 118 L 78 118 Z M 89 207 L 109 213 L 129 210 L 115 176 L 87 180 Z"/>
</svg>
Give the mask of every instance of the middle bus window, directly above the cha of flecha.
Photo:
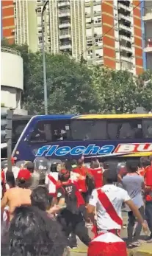
<svg viewBox="0 0 152 256">
<path fill-rule="evenodd" d="M 72 120 L 71 133 L 73 140 L 106 139 L 106 121 Z"/>
</svg>

